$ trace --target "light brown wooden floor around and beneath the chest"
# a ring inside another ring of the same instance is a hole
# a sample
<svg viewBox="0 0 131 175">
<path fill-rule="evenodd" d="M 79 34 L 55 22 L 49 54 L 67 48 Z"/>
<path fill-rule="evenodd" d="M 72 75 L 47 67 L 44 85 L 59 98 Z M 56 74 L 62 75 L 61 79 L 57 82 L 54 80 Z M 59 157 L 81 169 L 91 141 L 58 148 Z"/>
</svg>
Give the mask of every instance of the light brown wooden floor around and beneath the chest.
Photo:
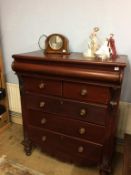
<svg viewBox="0 0 131 175">
<path fill-rule="evenodd" d="M 0 134 L 0 156 L 7 155 L 8 159 L 21 163 L 46 175 L 98 175 L 99 169 L 82 168 L 73 164 L 60 162 L 51 158 L 39 149 L 34 149 L 31 156 L 26 156 L 23 151 L 22 125 L 11 124 L 11 126 Z M 122 175 L 122 154 L 117 153 L 114 160 L 113 175 Z"/>
</svg>

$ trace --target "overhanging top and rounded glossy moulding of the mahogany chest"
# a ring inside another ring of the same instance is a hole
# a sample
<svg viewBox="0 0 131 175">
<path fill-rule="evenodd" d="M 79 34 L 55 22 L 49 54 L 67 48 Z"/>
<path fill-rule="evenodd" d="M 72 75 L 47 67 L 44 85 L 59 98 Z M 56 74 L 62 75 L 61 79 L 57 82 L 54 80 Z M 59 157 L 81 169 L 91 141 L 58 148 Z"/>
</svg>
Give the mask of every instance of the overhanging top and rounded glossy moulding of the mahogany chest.
<svg viewBox="0 0 131 175">
<path fill-rule="evenodd" d="M 72 53 L 65 57 L 51 54 L 41 55 L 39 52 L 36 57 L 36 53 L 13 55 L 12 69 L 19 73 L 37 72 L 51 76 L 61 75 L 67 78 L 77 77 L 86 80 L 91 79 L 121 84 L 123 69 L 126 66 L 125 62 L 120 62 L 121 57 L 118 57 L 116 60 L 103 62 L 100 60 L 86 60 L 83 57 L 79 59 L 80 53 Z M 74 64 L 74 61 L 77 64 Z M 118 70 L 115 70 L 117 68 Z"/>
</svg>

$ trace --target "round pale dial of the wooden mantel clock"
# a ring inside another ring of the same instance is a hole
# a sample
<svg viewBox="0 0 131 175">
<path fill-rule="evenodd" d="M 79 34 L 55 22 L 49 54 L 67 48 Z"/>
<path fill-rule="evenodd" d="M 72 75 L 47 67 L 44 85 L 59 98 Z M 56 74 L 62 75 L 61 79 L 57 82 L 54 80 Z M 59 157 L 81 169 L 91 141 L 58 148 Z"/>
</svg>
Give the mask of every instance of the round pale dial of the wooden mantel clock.
<svg viewBox="0 0 131 175">
<path fill-rule="evenodd" d="M 53 35 L 49 39 L 49 45 L 53 50 L 59 50 L 63 46 L 63 39 L 59 35 Z"/>
</svg>

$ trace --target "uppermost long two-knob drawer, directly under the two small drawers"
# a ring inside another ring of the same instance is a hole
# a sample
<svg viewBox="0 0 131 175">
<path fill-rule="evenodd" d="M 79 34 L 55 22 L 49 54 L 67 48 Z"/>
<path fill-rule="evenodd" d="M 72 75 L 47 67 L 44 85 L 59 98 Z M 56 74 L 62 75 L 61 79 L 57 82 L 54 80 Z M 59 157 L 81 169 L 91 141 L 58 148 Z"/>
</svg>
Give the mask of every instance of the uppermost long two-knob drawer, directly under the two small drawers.
<svg viewBox="0 0 131 175">
<path fill-rule="evenodd" d="M 77 101 L 29 93 L 25 95 L 25 98 L 27 108 L 99 125 L 105 125 L 106 117 L 108 116 L 108 107 L 106 105 L 79 103 Z"/>
</svg>

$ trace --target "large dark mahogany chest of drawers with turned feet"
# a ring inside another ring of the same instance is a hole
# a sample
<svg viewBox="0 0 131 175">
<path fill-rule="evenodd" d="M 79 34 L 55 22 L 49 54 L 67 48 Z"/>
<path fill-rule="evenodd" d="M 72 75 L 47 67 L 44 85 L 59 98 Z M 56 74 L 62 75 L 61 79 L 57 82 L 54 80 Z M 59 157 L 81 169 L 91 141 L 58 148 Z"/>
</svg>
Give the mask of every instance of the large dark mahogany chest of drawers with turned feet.
<svg viewBox="0 0 131 175">
<path fill-rule="evenodd" d="M 13 55 L 20 83 L 24 149 L 111 171 L 126 58 L 102 61 L 36 51 Z"/>
</svg>

